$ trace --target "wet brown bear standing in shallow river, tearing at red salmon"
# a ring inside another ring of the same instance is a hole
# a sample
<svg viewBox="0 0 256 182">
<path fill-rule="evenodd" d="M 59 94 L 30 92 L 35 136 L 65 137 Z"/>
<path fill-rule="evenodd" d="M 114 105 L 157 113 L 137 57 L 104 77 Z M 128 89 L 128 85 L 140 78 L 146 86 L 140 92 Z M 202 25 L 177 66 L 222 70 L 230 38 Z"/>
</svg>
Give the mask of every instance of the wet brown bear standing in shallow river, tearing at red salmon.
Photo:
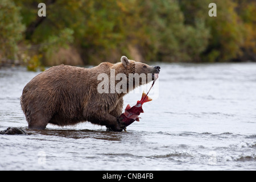
<svg viewBox="0 0 256 182">
<path fill-rule="evenodd" d="M 125 56 L 121 57 L 121 63 L 104 62 L 93 68 L 69 65 L 51 67 L 32 78 L 20 97 L 28 129 L 43 130 L 48 123 L 67 126 L 83 121 L 106 126 L 113 131 L 125 129 L 119 115 L 122 114 L 123 96 L 126 93 L 100 93 L 97 90 L 102 82 L 98 76 L 104 73 L 110 78 L 113 70 L 115 76 L 122 73 L 129 80 L 131 73 L 152 73 L 154 78 L 154 73 L 159 73 L 160 67 L 151 67 Z M 115 80 L 115 84 L 117 82 Z M 127 88 L 129 83 L 126 81 Z M 140 84 L 145 83 L 140 81 Z M 111 83 L 109 85 L 111 89 Z"/>
</svg>

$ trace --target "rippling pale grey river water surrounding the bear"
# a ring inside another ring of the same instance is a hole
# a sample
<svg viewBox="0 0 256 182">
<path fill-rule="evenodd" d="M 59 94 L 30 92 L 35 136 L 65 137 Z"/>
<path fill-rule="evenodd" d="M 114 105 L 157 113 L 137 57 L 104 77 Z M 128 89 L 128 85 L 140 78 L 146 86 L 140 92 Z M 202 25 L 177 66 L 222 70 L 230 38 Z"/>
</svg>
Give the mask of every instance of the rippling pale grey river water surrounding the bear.
<svg viewBox="0 0 256 182">
<path fill-rule="evenodd" d="M 28 131 L 22 89 L 39 72 L 0 69 L 1 170 L 255 170 L 256 64 L 162 64 L 151 102 L 127 133 L 88 122 Z M 125 106 L 142 89 L 125 96 Z M 124 106 L 124 107 L 125 107 Z"/>
</svg>

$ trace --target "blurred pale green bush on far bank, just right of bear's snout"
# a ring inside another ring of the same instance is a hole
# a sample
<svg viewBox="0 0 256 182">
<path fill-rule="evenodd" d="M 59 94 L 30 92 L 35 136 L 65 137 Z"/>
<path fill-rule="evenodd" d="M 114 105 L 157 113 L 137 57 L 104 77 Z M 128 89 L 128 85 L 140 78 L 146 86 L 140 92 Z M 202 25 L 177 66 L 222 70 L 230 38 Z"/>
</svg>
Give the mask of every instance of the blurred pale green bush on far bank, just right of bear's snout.
<svg viewBox="0 0 256 182">
<path fill-rule="evenodd" d="M 159 59 L 164 61 L 196 61 L 208 44 L 209 30 L 204 19 L 184 24 L 184 15 L 176 1 L 159 1 L 155 18 Z"/>
</svg>

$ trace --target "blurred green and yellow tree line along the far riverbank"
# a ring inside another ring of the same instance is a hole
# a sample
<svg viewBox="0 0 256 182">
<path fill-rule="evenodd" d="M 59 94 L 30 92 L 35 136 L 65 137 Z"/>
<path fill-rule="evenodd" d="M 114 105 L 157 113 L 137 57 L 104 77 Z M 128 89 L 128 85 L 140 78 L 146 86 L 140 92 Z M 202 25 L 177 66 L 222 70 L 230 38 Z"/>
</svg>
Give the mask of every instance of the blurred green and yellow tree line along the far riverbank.
<svg viewBox="0 0 256 182">
<path fill-rule="evenodd" d="M 46 4 L 46 17 L 38 4 Z M 210 17 L 209 3 L 217 5 Z M 253 0 L 1 0 L 0 65 L 256 60 Z M 18 61 L 17 61 L 18 60 Z"/>
</svg>

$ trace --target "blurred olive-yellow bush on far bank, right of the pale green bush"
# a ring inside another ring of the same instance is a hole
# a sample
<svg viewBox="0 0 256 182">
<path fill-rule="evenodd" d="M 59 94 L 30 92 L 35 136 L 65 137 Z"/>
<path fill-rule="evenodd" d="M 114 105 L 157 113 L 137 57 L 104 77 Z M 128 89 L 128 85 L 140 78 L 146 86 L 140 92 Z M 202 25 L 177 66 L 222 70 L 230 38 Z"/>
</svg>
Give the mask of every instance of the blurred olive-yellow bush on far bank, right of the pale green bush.
<svg viewBox="0 0 256 182">
<path fill-rule="evenodd" d="M 217 1 L 218 15 L 216 19 L 208 18 L 212 30 L 212 51 L 220 52 L 218 61 L 227 61 L 241 55 L 243 44 L 243 24 L 237 15 L 236 3 L 232 1 Z M 214 40 L 215 39 L 215 40 Z"/>
</svg>

